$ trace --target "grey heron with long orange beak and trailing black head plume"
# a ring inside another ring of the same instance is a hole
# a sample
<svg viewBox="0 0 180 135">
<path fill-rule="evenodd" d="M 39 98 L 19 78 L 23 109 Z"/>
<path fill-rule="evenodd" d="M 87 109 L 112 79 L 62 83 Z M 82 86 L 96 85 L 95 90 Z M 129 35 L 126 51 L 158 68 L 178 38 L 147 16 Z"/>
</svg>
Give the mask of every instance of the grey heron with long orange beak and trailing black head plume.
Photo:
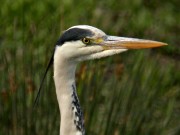
<svg viewBox="0 0 180 135">
<path fill-rule="evenodd" d="M 54 82 L 61 114 L 60 135 L 85 134 L 83 114 L 75 85 L 75 70 L 79 62 L 119 54 L 128 49 L 164 45 L 167 44 L 152 40 L 109 36 L 102 30 L 88 25 L 77 25 L 64 31 L 56 43 L 48 65 L 48 68 L 51 64 L 54 65 Z M 38 96 L 41 87 L 42 83 Z"/>
</svg>

